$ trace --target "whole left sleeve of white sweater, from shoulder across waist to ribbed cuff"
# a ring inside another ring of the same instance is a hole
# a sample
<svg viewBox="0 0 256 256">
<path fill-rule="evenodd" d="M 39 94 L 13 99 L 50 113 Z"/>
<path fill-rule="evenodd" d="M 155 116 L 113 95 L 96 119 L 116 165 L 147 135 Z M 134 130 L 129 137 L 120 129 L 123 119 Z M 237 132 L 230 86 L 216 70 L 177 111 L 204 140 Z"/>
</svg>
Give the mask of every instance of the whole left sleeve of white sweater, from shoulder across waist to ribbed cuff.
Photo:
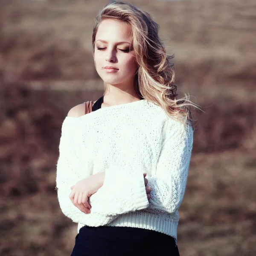
<svg viewBox="0 0 256 256">
<path fill-rule="evenodd" d="M 64 215 L 73 222 L 97 227 L 108 224 L 119 214 L 148 207 L 143 174 L 130 173 L 122 177 L 118 166 L 105 169 L 103 186 L 88 200 L 91 205 L 90 214 L 81 212 L 73 205 L 69 198 L 70 187 L 84 178 L 79 176 L 83 166 L 78 146 L 79 131 L 76 129 L 74 122 L 65 122 L 61 129 L 56 187 Z"/>
</svg>

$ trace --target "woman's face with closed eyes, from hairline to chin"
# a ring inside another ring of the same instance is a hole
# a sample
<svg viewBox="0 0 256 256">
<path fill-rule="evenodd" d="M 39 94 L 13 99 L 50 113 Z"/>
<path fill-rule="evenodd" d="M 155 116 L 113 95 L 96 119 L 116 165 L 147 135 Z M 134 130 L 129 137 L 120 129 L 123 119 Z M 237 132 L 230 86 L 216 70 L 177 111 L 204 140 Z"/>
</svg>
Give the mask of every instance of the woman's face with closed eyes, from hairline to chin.
<svg viewBox="0 0 256 256">
<path fill-rule="evenodd" d="M 94 61 L 99 76 L 107 84 L 133 84 L 137 62 L 131 44 L 131 27 L 128 24 L 111 19 L 100 23 L 95 39 Z M 115 70 L 105 67 L 114 67 Z"/>
</svg>

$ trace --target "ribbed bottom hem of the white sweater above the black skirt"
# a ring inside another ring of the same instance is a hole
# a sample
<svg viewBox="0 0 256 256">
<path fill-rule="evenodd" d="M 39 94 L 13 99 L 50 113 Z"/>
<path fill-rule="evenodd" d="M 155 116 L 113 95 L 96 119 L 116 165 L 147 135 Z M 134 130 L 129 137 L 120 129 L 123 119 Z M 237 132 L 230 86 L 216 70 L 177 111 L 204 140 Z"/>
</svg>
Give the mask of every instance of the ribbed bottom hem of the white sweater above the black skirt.
<svg viewBox="0 0 256 256">
<path fill-rule="evenodd" d="M 168 236 L 172 236 L 175 239 L 177 245 L 177 226 L 178 222 L 166 221 L 169 218 L 169 214 L 154 214 L 150 212 L 128 212 L 121 214 L 118 218 L 114 219 L 110 223 L 104 226 L 110 227 L 138 227 L 147 230 L 154 230 Z M 83 224 L 78 224 L 78 233 Z"/>
</svg>

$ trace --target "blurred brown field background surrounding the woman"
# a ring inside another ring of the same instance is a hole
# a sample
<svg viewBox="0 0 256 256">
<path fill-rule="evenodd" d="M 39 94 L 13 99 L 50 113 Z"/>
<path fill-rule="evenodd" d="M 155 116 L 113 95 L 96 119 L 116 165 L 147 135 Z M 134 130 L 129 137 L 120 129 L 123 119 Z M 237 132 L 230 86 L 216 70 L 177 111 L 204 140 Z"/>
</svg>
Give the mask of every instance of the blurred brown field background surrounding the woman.
<svg viewBox="0 0 256 256">
<path fill-rule="evenodd" d="M 196 119 L 181 256 L 256 255 L 256 2 L 133 0 L 175 54 Z M 91 36 L 107 0 L 0 0 L 0 255 L 64 256 L 77 224 L 55 191 L 67 112 L 102 96 Z"/>
</svg>

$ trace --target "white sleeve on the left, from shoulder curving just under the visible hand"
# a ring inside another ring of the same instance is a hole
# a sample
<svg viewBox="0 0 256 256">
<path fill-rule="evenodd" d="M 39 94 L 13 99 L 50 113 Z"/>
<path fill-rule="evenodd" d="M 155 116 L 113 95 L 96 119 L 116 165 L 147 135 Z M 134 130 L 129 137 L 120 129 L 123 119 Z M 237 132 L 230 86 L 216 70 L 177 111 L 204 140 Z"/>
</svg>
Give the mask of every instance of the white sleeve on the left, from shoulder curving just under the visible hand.
<svg viewBox="0 0 256 256">
<path fill-rule="evenodd" d="M 59 144 L 59 157 L 57 161 L 56 172 L 56 188 L 58 195 L 58 202 L 61 211 L 65 216 L 72 219 L 73 222 L 81 223 L 88 226 L 101 226 L 113 221 L 116 217 L 113 215 L 104 215 L 99 212 L 85 214 L 81 212 L 69 198 L 70 187 L 76 184 L 77 181 L 83 179 L 79 173 L 83 166 L 77 151 L 76 134 L 76 120 L 65 119 L 61 128 L 61 138 Z"/>
</svg>

